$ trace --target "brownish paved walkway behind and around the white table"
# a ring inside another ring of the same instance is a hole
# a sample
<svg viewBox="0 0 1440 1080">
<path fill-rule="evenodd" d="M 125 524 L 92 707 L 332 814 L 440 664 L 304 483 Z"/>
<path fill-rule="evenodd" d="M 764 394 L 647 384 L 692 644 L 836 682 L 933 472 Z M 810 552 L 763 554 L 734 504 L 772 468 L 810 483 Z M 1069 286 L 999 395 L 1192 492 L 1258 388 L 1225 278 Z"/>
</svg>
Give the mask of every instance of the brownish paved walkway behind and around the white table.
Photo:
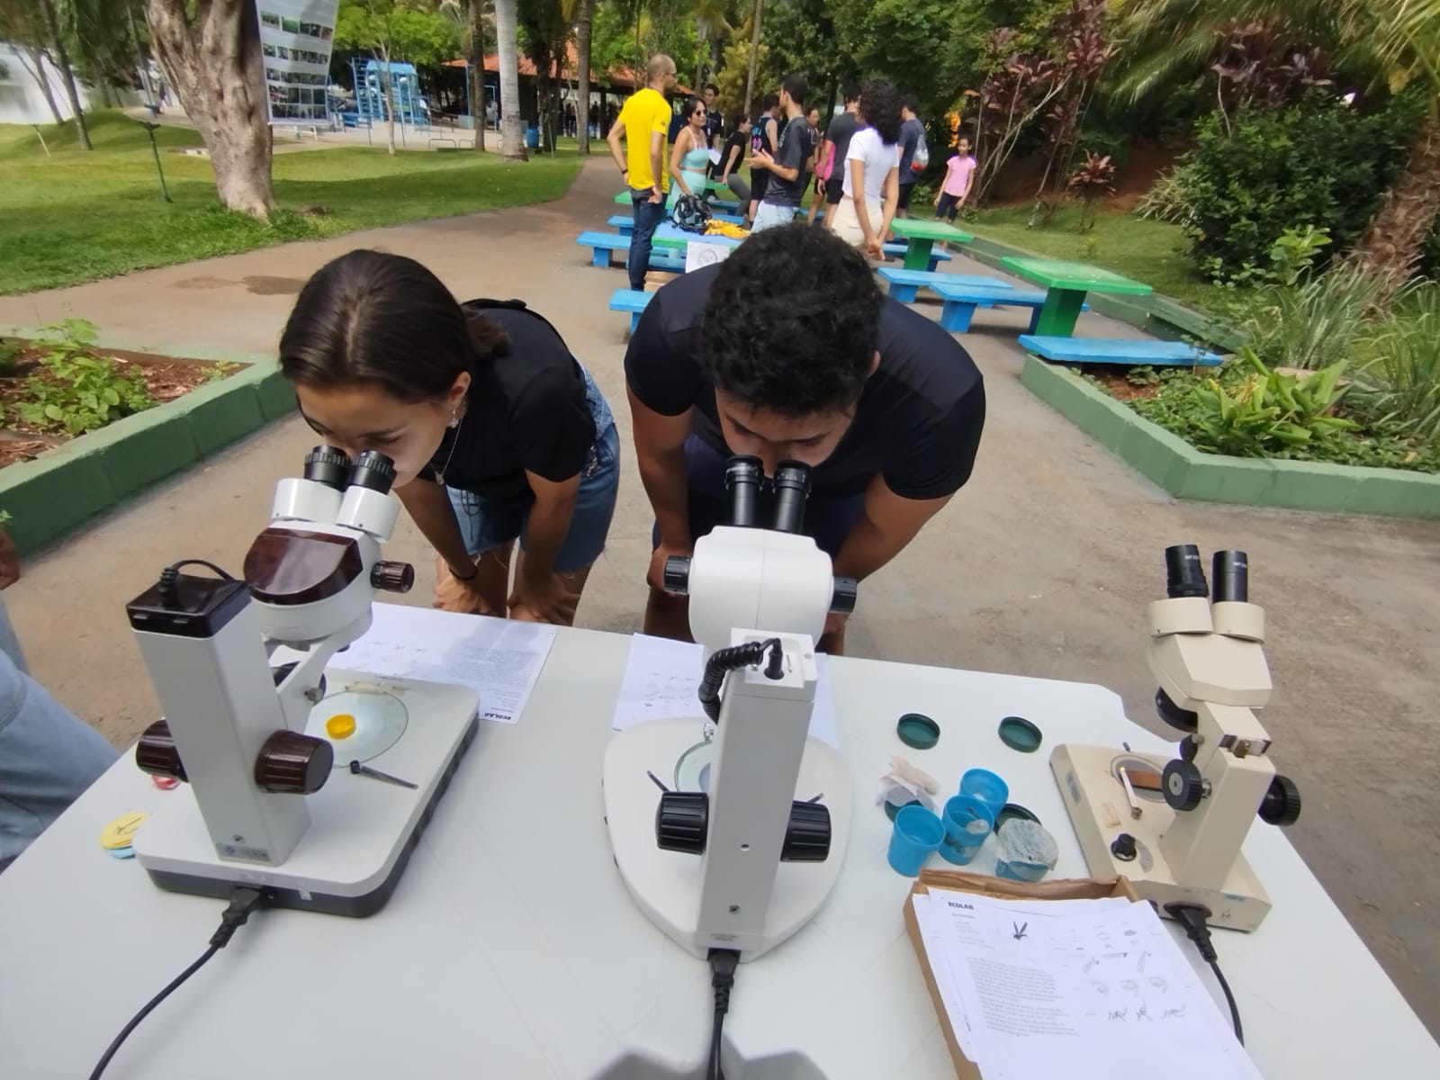
<svg viewBox="0 0 1440 1080">
<path fill-rule="evenodd" d="M 540 308 L 593 369 L 628 445 L 626 318 L 605 307 L 624 275 L 590 266 L 589 252 L 575 243 L 582 229 L 603 228 L 615 190 L 613 170 L 595 161 L 556 203 L 0 298 L 0 324 L 73 314 L 94 320 L 117 344 L 272 353 L 307 275 L 351 248 L 383 248 L 423 261 L 461 298 L 518 295 Z M 960 258 L 952 268 L 989 272 Z M 926 310 L 936 314 L 939 305 Z M 1096 315 L 1083 318 L 1090 334 L 1136 336 Z M 1431 708 L 1440 671 L 1440 526 L 1176 503 L 1020 386 L 1022 321 L 1018 312 L 981 312 L 981 327 L 965 336 L 989 397 L 975 478 L 865 583 L 851 652 L 1100 683 L 1148 723 L 1145 605 L 1164 590 L 1162 549 L 1191 541 L 1205 552 L 1248 550 L 1253 596 L 1266 605 L 1272 632 L 1276 693 L 1266 724 L 1280 766 L 1305 795 L 1292 840 L 1440 1032 Z M 235 567 L 265 523 L 275 480 L 292 474 L 312 442 L 298 419 L 276 423 L 33 560 L 6 600 L 36 674 L 114 742 L 132 739 L 156 703 L 124 603 L 181 556 Z M 648 536 L 644 492 L 626 461 L 611 547 L 580 605 L 582 625 L 638 629 Z M 390 557 L 429 564 L 408 523 Z M 422 570 L 412 602 L 428 602 L 428 577 Z M 903 710 L 897 701 L 894 711 Z M 592 720 L 605 723 L 608 714 Z M 968 714 L 963 701 L 949 717 L 995 720 Z M 1017 796 L 1024 801 L 1024 792 Z M 1286 912 L 1272 917 L 1286 919 Z M 1270 986 L 1238 986 L 1237 994 L 1274 1021 L 1303 1022 L 1286 1015 L 1284 995 Z"/>
</svg>

